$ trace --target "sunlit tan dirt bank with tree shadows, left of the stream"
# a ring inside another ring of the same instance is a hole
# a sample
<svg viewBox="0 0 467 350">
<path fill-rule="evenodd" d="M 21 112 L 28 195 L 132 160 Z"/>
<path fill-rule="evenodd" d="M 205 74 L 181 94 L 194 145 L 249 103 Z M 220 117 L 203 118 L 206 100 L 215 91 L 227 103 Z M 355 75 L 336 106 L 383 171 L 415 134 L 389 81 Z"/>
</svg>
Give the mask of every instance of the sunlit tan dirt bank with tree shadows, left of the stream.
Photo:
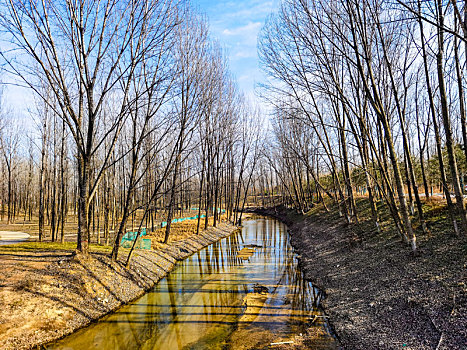
<svg viewBox="0 0 467 350">
<path fill-rule="evenodd" d="M 117 263 L 104 253 L 0 252 L 0 349 L 31 348 L 89 324 L 143 295 L 177 260 L 235 229 L 219 224 L 157 250 L 138 250 L 129 269 L 128 250 Z"/>
</svg>

